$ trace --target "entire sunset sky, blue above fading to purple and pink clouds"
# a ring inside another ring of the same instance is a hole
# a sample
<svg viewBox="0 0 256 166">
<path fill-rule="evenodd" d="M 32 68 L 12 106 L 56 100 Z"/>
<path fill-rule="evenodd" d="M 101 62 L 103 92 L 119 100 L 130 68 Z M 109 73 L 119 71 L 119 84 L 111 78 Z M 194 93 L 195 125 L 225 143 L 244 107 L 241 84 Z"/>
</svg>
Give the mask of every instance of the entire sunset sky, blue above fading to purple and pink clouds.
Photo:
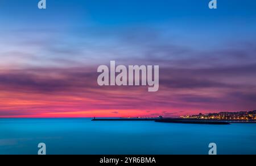
<svg viewBox="0 0 256 166">
<path fill-rule="evenodd" d="M 178 117 L 256 109 L 256 1 L 0 1 L 0 118 Z M 159 90 L 97 68 L 159 65 Z"/>
</svg>

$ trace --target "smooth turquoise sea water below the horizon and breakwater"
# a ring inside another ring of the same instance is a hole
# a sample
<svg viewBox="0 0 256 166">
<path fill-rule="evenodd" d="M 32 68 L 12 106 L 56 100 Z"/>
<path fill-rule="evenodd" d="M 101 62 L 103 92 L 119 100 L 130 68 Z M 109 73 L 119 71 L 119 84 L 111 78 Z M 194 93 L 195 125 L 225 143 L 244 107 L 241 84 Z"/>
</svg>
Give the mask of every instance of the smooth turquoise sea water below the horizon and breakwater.
<svg viewBox="0 0 256 166">
<path fill-rule="evenodd" d="M 0 154 L 256 154 L 256 124 L 0 119 Z"/>
</svg>

